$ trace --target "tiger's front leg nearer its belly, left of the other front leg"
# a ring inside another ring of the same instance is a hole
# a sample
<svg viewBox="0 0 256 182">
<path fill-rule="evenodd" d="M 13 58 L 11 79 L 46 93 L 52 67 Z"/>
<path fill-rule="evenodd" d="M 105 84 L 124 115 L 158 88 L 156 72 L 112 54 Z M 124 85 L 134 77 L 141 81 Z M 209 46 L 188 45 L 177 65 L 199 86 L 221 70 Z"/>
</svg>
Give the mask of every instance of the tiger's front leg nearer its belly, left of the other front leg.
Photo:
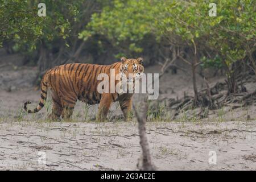
<svg viewBox="0 0 256 182">
<path fill-rule="evenodd" d="M 103 94 L 100 101 L 100 106 L 98 107 L 97 121 L 105 121 L 109 108 L 114 102 L 115 96 L 112 93 Z"/>
</svg>

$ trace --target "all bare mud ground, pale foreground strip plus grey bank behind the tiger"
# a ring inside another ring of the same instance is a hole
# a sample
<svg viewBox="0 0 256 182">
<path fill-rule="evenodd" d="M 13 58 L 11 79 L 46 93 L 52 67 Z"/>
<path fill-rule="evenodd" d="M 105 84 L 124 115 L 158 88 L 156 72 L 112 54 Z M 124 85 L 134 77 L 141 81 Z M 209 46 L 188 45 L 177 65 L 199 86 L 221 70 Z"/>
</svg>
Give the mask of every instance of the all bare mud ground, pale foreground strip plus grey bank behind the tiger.
<svg viewBox="0 0 256 182">
<path fill-rule="evenodd" d="M 141 146 L 136 122 L 80 122 L 85 121 L 84 104 L 80 102 L 73 113 L 78 122 L 47 122 L 46 107 L 35 115 L 19 115 L 25 101 L 32 102 L 30 109 L 38 104 L 40 92 L 32 89 L 31 81 L 27 85 L 31 74 L 26 70 L 9 72 L 0 75 L 0 170 L 137 169 Z M 163 79 L 161 97 L 192 94 L 191 77 L 183 72 L 170 73 Z M 198 82 L 203 89 L 204 81 L 199 77 Z M 255 85 L 245 84 L 249 92 Z M 96 113 L 97 105 L 89 109 L 90 117 Z M 110 115 L 120 114 L 121 109 L 113 105 Z M 155 166 L 162 170 L 255 170 L 255 119 L 256 105 L 252 104 L 231 111 L 228 107 L 212 110 L 206 119 L 209 122 L 148 122 Z M 216 165 L 208 162 L 210 151 L 216 152 Z M 46 165 L 38 163 L 38 152 L 46 152 Z"/>
</svg>

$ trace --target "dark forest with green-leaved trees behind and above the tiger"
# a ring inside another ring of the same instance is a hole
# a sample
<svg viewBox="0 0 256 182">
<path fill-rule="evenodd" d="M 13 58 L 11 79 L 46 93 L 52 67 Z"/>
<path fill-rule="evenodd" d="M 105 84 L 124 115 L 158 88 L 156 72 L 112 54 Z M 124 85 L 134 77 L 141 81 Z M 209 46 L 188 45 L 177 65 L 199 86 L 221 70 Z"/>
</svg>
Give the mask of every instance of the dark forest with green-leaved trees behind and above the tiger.
<svg viewBox="0 0 256 182">
<path fill-rule="evenodd" d="M 140 56 L 146 67 L 158 64 L 175 74 L 183 62 L 197 104 L 196 72 L 225 75 L 228 95 L 242 92 L 238 76 L 256 72 L 256 1 L 49 0 L 43 1 L 46 16 L 38 15 L 44 13 L 39 3 L 0 1 L 0 45 L 23 55 L 20 66 L 36 65 L 39 80 L 65 63 Z"/>
</svg>

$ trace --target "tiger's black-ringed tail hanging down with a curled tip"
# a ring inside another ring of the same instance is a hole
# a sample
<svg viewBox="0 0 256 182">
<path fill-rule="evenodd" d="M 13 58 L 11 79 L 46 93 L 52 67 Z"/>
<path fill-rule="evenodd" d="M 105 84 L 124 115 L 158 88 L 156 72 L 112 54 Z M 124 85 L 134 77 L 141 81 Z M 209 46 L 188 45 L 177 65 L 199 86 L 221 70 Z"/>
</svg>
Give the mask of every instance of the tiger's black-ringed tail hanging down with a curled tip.
<svg viewBox="0 0 256 182">
<path fill-rule="evenodd" d="M 46 97 L 47 97 L 47 80 L 46 80 L 47 76 L 44 75 L 42 81 L 41 81 L 41 98 L 39 100 L 39 104 L 38 106 L 35 107 L 34 110 L 30 110 L 27 109 L 27 105 L 31 104 L 30 101 L 27 101 L 24 103 L 24 110 L 27 111 L 27 113 L 37 113 L 39 110 L 41 110 L 44 107 L 44 102 L 46 101 Z"/>
</svg>

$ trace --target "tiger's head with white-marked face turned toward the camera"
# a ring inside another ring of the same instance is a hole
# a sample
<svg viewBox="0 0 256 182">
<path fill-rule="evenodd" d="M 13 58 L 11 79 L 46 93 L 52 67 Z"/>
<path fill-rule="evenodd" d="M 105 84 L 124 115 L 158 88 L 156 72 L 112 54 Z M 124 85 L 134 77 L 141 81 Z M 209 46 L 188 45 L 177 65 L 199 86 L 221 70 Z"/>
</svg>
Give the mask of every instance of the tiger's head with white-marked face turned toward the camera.
<svg viewBox="0 0 256 182">
<path fill-rule="evenodd" d="M 141 57 L 137 59 L 126 59 L 125 57 L 121 57 L 122 65 L 120 71 L 122 78 L 126 77 L 128 82 L 134 82 L 141 78 L 142 73 L 144 72 L 142 62 L 143 59 Z"/>
</svg>

